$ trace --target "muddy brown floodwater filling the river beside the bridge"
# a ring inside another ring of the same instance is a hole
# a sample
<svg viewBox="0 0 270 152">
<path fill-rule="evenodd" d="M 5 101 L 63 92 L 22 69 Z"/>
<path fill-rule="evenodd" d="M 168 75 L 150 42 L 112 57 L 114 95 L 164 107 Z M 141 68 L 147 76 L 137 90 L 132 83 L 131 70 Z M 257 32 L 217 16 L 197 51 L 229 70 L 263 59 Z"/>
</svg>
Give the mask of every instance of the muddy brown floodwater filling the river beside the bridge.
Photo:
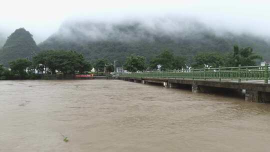
<svg viewBox="0 0 270 152">
<path fill-rule="evenodd" d="M 270 151 L 270 104 L 122 80 L 0 81 L 0 151 Z"/>
</svg>

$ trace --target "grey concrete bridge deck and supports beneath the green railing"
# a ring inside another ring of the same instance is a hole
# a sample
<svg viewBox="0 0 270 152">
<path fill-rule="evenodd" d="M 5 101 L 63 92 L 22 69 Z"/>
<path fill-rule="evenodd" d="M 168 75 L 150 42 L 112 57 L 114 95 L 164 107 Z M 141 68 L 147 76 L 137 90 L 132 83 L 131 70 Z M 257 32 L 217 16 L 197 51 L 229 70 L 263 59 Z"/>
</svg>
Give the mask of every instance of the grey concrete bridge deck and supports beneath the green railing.
<svg viewBox="0 0 270 152">
<path fill-rule="evenodd" d="M 169 78 L 169 77 L 125 77 L 119 79 L 141 82 L 160 83 L 165 87 L 190 87 L 193 93 L 221 91 L 245 91 L 245 100 L 254 102 L 270 101 L 270 84 L 263 80 L 231 80 L 231 79 L 192 79 L 192 78 Z"/>
</svg>

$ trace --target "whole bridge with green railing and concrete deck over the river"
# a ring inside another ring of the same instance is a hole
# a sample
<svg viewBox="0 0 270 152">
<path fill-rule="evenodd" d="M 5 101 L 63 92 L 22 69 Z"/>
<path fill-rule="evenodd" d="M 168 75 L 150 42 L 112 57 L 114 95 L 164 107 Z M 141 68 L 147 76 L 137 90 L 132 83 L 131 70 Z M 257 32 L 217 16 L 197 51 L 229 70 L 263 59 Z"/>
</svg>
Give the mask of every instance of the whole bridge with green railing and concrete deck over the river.
<svg viewBox="0 0 270 152">
<path fill-rule="evenodd" d="M 119 79 L 159 83 L 165 87 L 187 87 L 192 93 L 214 91 L 238 91 L 245 93 L 245 100 L 253 102 L 270 101 L 268 84 L 269 65 L 237 66 L 167 71 L 128 72 Z"/>
</svg>

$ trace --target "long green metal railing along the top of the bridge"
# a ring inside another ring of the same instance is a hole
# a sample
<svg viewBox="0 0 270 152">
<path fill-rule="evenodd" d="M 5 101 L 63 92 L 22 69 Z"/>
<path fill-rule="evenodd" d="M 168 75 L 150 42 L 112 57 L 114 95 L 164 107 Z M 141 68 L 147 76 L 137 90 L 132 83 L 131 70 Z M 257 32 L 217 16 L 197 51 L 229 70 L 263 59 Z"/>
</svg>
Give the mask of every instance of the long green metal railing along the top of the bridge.
<svg viewBox="0 0 270 152">
<path fill-rule="evenodd" d="M 237 67 L 218 67 L 218 68 L 200 68 L 200 69 L 182 69 L 166 71 L 146 71 L 122 73 L 120 77 L 157 77 L 157 78 L 192 78 L 192 79 L 231 79 L 240 82 L 244 80 L 264 80 L 268 83 L 269 65 L 264 66 L 237 66 Z"/>
</svg>

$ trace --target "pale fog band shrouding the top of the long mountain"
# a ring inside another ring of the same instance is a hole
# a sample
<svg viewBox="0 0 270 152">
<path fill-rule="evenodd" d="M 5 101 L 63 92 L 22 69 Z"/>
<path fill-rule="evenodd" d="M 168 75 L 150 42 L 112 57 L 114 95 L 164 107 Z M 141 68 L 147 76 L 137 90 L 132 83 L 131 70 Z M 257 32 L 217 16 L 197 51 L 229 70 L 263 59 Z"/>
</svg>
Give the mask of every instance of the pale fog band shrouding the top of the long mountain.
<svg viewBox="0 0 270 152">
<path fill-rule="evenodd" d="M 64 21 L 52 37 L 73 40 L 74 42 L 95 40 L 117 41 L 153 41 L 155 37 L 170 37 L 171 39 L 187 38 L 193 34 L 213 31 L 212 28 L 198 22 L 194 18 L 174 15 L 122 18 L 114 20 L 68 20 Z M 52 38 L 52 40 L 54 40 Z"/>
</svg>

